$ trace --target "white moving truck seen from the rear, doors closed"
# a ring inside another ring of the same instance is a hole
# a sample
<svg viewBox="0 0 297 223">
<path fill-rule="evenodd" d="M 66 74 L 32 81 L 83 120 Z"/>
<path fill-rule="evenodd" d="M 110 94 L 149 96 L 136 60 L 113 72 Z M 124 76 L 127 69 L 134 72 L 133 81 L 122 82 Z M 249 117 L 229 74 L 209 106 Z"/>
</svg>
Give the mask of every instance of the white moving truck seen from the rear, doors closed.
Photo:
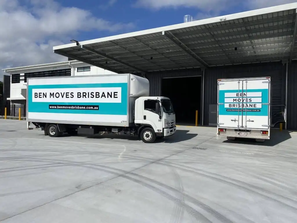
<svg viewBox="0 0 297 223">
<path fill-rule="evenodd" d="M 270 138 L 270 77 L 219 79 L 217 135 L 227 139 Z"/>
</svg>

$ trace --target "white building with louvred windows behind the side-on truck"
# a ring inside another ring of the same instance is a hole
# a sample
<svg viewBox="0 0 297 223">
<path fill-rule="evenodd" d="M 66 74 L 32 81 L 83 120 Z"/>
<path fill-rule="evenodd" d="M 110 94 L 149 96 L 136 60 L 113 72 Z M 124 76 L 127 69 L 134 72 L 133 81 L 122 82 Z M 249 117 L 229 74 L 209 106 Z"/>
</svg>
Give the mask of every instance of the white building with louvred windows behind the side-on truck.
<svg viewBox="0 0 297 223">
<path fill-rule="evenodd" d="M 91 66 L 77 60 L 31 65 L 25 67 L 14 67 L 2 70 L 10 74 L 10 95 L 7 95 L 7 100 L 10 100 L 11 105 L 16 106 L 26 105 L 27 78 L 102 75 L 114 73 L 109 70 Z"/>
</svg>

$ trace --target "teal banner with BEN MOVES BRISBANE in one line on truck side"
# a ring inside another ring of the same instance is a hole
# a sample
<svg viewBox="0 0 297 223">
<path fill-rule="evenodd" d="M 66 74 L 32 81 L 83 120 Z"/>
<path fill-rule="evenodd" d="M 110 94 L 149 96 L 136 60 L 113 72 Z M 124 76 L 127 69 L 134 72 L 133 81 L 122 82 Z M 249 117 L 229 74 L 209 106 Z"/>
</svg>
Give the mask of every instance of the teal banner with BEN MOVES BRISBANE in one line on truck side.
<svg viewBox="0 0 297 223">
<path fill-rule="evenodd" d="M 127 115 L 127 83 L 28 86 L 28 112 Z M 94 120 L 95 121 L 95 120 Z"/>
</svg>

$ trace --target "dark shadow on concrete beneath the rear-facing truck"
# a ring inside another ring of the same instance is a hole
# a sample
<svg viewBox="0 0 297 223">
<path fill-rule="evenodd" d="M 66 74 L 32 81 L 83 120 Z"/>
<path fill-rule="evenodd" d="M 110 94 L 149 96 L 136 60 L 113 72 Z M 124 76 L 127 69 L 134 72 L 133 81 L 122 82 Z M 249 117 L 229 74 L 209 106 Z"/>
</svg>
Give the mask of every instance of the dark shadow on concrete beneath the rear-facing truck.
<svg viewBox="0 0 297 223">
<path fill-rule="evenodd" d="M 256 142 L 255 139 L 236 138 L 235 140 L 225 140 L 225 143 L 236 143 L 246 145 L 259 145 L 259 146 L 275 146 L 281 142 L 285 142 L 291 138 L 291 131 L 279 131 L 279 129 L 271 129 L 270 139 L 266 139 L 264 142 Z"/>
</svg>

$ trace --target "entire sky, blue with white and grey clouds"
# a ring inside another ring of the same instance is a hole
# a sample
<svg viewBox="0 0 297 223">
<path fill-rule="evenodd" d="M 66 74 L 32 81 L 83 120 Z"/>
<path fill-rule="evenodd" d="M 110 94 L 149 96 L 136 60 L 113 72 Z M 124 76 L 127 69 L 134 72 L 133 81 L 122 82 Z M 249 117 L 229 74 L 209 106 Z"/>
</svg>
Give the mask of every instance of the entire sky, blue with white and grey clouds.
<svg viewBox="0 0 297 223">
<path fill-rule="evenodd" d="M 53 46 L 297 0 L 0 0 L 0 70 L 67 58 Z M 4 72 L 0 71 L 0 80 Z"/>
</svg>

